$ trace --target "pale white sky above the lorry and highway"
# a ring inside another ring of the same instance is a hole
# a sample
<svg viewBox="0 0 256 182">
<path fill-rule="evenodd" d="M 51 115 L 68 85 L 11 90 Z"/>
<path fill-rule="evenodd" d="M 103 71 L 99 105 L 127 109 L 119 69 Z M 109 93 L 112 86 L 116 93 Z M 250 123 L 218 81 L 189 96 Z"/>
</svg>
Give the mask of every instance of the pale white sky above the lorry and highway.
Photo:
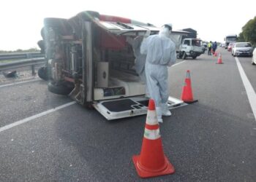
<svg viewBox="0 0 256 182">
<path fill-rule="evenodd" d="M 195 29 L 197 37 L 203 41 L 224 42 L 225 35 L 241 33 L 241 28 L 256 16 L 255 7 L 255 0 L 1 1 L 0 50 L 38 48 L 45 17 L 69 18 L 86 10 L 157 26 L 172 23 L 173 30 Z"/>
</svg>

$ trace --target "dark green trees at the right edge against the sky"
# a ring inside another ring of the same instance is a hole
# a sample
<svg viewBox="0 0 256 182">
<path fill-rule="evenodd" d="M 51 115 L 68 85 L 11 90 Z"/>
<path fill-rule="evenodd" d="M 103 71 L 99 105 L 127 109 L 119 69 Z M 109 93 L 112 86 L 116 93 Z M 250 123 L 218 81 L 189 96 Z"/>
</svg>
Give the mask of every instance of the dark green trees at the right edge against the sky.
<svg viewBox="0 0 256 182">
<path fill-rule="evenodd" d="M 249 41 L 256 47 L 256 17 L 249 20 L 239 33 L 238 41 Z"/>
</svg>

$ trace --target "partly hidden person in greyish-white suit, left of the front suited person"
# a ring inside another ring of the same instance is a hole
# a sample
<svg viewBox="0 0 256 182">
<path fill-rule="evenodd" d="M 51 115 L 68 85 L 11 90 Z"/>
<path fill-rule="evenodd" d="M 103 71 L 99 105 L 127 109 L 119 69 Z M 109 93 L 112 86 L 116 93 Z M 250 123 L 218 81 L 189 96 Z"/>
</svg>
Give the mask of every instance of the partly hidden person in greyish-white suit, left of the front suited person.
<svg viewBox="0 0 256 182">
<path fill-rule="evenodd" d="M 137 36 L 135 39 L 127 38 L 127 42 L 132 45 L 132 50 L 135 55 L 135 71 L 140 76 L 141 81 L 145 84 L 146 97 L 149 97 L 145 74 L 146 55 L 140 53 L 140 44 L 142 41 L 143 36 Z"/>
</svg>

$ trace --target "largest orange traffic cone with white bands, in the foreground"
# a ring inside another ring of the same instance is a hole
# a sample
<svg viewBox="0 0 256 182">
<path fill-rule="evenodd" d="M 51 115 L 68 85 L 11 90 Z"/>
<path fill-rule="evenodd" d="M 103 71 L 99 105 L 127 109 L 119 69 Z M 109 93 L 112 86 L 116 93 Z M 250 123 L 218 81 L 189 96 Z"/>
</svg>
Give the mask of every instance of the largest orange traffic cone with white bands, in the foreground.
<svg viewBox="0 0 256 182">
<path fill-rule="evenodd" d="M 152 99 L 148 103 L 148 114 L 140 155 L 133 156 L 132 161 L 141 178 L 168 175 L 175 172 L 173 165 L 165 157 L 162 149 L 157 113 Z"/>
</svg>

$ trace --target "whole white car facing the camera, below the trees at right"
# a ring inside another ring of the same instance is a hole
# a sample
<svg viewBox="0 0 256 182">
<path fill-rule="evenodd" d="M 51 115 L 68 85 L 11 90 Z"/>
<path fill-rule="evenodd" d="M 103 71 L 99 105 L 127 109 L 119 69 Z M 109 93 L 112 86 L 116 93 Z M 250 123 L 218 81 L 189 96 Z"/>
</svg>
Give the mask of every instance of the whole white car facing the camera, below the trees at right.
<svg viewBox="0 0 256 182">
<path fill-rule="evenodd" d="M 232 49 L 233 56 L 246 55 L 252 57 L 252 44 L 249 42 L 236 42 Z"/>
</svg>

